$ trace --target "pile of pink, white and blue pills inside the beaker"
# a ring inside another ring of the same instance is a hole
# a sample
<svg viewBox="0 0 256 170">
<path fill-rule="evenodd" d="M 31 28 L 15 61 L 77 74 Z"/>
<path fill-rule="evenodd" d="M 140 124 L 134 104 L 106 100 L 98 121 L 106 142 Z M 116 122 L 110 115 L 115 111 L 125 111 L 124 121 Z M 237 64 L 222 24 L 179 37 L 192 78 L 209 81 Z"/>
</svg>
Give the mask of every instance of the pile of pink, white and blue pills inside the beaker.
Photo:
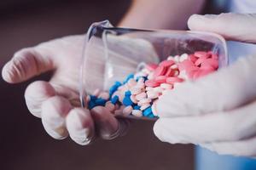
<svg viewBox="0 0 256 170">
<path fill-rule="evenodd" d="M 154 117 L 154 101 L 187 80 L 204 77 L 218 69 L 218 54 L 196 51 L 170 56 L 156 64 L 144 64 L 124 82 L 115 82 L 108 92 L 96 89 L 87 96 L 88 108 L 102 105 L 116 116 Z"/>
</svg>

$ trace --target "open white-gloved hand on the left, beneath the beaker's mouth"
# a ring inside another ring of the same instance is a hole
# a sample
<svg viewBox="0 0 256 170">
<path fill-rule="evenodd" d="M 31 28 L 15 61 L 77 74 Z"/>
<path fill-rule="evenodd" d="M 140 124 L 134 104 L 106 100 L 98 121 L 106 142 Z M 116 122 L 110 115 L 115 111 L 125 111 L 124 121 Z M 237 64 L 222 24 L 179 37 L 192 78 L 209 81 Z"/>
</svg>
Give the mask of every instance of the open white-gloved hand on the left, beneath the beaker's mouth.
<svg viewBox="0 0 256 170">
<path fill-rule="evenodd" d="M 123 40 L 117 38 L 116 41 Z M 124 133 L 127 122 L 116 119 L 101 106 L 95 107 L 91 113 L 87 109 L 80 108 L 78 87 L 83 43 L 84 36 L 70 36 L 44 42 L 33 48 L 21 49 L 4 65 L 2 74 L 6 82 L 18 83 L 45 71 L 54 71 L 49 82 L 32 82 L 26 88 L 26 105 L 32 115 L 42 118 L 46 132 L 53 138 L 65 139 L 69 134 L 76 143 L 89 144 L 96 136 L 102 139 L 119 136 Z M 143 42 L 133 44 L 137 47 L 147 46 Z M 102 46 L 100 45 L 99 48 Z M 151 46 L 145 50 L 151 50 L 151 54 L 154 54 Z M 96 86 L 102 83 L 98 82 L 103 77 L 101 71 L 104 60 L 102 54 L 99 54 L 102 51 L 96 50 L 91 54 L 90 62 L 95 65 L 91 65 L 86 74 L 91 76 L 89 78 Z M 136 59 L 131 58 L 131 63 L 132 60 Z M 122 66 L 135 69 L 130 65 L 131 63 L 127 62 L 126 65 L 122 63 Z M 118 65 L 119 61 L 115 64 Z M 123 73 L 123 76 L 127 74 L 123 70 L 119 72 Z M 97 78 L 94 77 L 95 75 Z"/>
</svg>

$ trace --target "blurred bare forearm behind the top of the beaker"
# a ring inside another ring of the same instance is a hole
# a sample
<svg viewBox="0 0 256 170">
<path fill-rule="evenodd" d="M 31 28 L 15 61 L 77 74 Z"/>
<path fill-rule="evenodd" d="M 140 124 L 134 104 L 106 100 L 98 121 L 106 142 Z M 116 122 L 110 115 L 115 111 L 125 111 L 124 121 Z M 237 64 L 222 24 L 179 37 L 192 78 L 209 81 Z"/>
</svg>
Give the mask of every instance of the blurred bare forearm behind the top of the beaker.
<svg viewBox="0 0 256 170">
<path fill-rule="evenodd" d="M 191 14 L 201 13 L 205 0 L 133 0 L 122 27 L 185 29 Z"/>
</svg>

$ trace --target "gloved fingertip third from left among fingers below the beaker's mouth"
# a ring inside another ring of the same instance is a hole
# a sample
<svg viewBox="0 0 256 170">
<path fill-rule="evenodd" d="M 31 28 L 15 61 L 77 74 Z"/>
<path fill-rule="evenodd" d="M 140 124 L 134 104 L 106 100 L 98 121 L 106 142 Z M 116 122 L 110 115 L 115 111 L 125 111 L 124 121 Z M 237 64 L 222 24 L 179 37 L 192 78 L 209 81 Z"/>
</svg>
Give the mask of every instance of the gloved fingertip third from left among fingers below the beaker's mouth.
<svg viewBox="0 0 256 170">
<path fill-rule="evenodd" d="M 74 108 L 67 115 L 67 131 L 78 144 L 90 144 L 95 136 L 95 128 L 90 111 L 83 108 Z"/>
</svg>

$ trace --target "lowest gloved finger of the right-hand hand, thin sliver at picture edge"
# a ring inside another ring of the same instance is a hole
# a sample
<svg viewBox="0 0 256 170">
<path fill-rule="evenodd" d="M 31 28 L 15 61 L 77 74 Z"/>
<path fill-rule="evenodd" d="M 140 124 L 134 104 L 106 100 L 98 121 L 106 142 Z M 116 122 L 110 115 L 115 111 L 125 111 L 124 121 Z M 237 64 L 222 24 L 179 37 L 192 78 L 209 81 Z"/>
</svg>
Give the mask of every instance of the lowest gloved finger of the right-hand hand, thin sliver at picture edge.
<svg viewBox="0 0 256 170">
<path fill-rule="evenodd" d="M 222 155 L 256 156 L 256 137 L 231 142 L 200 144 L 202 147 Z"/>
</svg>

